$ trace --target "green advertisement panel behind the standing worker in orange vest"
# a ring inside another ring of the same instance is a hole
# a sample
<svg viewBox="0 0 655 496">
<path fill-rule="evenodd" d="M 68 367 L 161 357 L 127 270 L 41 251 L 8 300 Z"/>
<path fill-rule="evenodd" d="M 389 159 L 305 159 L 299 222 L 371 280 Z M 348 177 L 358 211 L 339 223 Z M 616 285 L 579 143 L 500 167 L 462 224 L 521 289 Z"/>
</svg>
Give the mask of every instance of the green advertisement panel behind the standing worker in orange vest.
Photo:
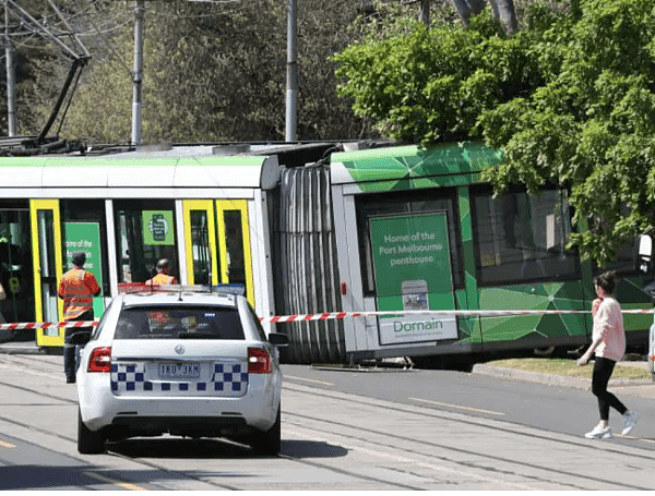
<svg viewBox="0 0 655 496">
<path fill-rule="evenodd" d="M 97 222 L 64 222 L 66 269 L 73 268 L 73 253 L 84 252 L 86 263 L 84 269 L 93 274 L 103 287 L 103 269 L 100 256 L 100 226 Z M 93 313 L 100 317 L 105 311 L 103 299 L 93 299 Z"/>
</svg>

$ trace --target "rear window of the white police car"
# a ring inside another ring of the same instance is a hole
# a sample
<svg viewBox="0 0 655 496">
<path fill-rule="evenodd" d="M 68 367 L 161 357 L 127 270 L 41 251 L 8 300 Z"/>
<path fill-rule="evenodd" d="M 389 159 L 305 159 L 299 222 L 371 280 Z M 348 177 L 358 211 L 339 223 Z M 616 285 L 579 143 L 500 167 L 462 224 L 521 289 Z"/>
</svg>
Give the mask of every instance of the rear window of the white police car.
<svg viewBox="0 0 655 496">
<path fill-rule="evenodd" d="M 114 339 L 246 339 L 237 309 L 148 306 L 123 309 Z"/>
</svg>

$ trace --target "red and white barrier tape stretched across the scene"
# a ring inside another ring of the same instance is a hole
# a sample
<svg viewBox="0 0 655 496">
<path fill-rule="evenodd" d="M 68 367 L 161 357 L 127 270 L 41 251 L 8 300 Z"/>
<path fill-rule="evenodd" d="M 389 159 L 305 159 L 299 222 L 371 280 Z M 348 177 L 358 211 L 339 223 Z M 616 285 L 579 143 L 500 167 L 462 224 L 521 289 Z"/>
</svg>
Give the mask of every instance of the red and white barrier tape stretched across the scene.
<svg viewBox="0 0 655 496">
<path fill-rule="evenodd" d="M 624 314 L 653 314 L 655 309 L 622 310 Z M 303 315 L 282 315 L 273 317 L 260 317 L 262 323 L 285 323 L 285 322 L 309 322 L 309 320 L 329 320 L 342 319 L 346 317 L 374 317 L 374 316 L 394 316 L 394 315 L 452 315 L 462 317 L 510 317 L 519 315 L 583 315 L 590 314 L 588 310 L 404 310 L 388 312 L 326 312 L 320 314 Z M 20 329 L 47 329 L 50 327 L 93 327 L 97 326 L 98 320 L 87 322 L 28 322 L 0 324 L 0 330 L 20 330 Z"/>
</svg>

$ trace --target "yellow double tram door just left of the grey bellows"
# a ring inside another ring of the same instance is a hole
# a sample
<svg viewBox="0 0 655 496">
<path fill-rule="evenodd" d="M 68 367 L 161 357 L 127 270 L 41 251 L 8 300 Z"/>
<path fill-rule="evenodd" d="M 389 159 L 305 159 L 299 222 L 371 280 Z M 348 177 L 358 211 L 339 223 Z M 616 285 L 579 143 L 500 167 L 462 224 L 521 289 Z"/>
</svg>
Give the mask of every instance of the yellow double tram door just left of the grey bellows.
<svg viewBox="0 0 655 496">
<path fill-rule="evenodd" d="M 188 199 L 183 210 L 189 283 L 242 283 L 254 305 L 247 201 Z"/>
</svg>

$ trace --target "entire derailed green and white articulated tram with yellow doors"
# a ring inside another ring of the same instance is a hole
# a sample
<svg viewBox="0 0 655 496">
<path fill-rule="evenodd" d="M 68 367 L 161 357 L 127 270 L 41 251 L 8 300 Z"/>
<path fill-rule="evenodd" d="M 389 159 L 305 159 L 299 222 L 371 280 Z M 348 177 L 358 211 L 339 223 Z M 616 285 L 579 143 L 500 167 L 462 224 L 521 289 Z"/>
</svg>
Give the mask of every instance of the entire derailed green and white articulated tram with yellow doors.
<svg viewBox="0 0 655 496">
<path fill-rule="evenodd" d="M 496 199 L 479 174 L 501 159 L 471 142 L 0 157 L 0 312 L 7 322 L 60 320 L 57 282 L 84 251 L 102 286 L 96 316 L 119 285 L 147 280 L 163 257 L 182 285 L 242 283 L 261 317 L 344 313 L 264 320 L 267 332 L 289 336 L 290 363 L 410 356 L 465 367 L 486 353 L 584 346 L 588 315 L 407 313 L 590 309 L 599 268 L 565 247 L 567 192 L 516 187 Z M 631 246 L 614 268 L 622 306 L 648 307 Z M 362 311 L 384 315 L 348 316 Z M 647 315 L 626 323 L 629 342 L 647 341 Z M 39 329 L 35 340 L 61 347 L 63 329 Z"/>
</svg>

